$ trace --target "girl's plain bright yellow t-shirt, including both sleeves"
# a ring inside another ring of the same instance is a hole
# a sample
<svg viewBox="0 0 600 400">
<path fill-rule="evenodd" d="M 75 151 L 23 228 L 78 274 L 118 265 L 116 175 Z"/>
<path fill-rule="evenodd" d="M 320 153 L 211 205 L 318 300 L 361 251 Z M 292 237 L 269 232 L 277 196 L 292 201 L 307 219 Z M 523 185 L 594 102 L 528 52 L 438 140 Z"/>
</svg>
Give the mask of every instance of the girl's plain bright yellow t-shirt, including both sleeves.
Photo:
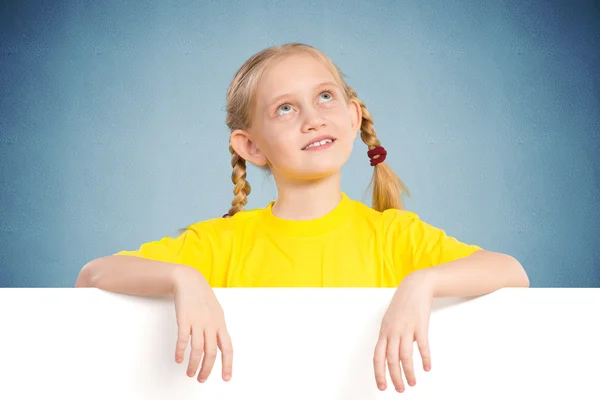
<svg viewBox="0 0 600 400">
<path fill-rule="evenodd" d="M 378 212 L 346 194 L 313 220 L 278 218 L 272 205 L 197 222 L 176 238 L 116 254 L 191 266 L 213 288 L 397 287 L 415 270 L 481 250 L 413 212 Z"/>
</svg>

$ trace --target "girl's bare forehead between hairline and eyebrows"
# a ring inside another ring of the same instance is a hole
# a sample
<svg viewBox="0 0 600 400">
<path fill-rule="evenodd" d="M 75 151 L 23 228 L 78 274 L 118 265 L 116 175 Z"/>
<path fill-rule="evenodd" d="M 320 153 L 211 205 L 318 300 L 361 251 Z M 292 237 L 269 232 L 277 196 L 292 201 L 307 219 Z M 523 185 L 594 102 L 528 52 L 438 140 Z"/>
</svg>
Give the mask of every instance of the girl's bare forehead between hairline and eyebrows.
<svg viewBox="0 0 600 400">
<path fill-rule="evenodd" d="M 274 60 L 265 69 L 258 84 L 257 97 L 269 101 L 283 93 L 312 88 L 325 81 L 337 81 L 325 63 L 310 54 L 290 54 Z"/>
</svg>

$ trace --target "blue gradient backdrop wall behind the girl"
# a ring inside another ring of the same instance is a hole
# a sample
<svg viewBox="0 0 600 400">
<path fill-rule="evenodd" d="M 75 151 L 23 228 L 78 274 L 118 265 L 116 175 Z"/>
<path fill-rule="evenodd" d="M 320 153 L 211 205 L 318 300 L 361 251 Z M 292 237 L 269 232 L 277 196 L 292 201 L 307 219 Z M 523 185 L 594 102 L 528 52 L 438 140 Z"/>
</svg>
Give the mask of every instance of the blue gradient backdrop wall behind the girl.
<svg viewBox="0 0 600 400">
<path fill-rule="evenodd" d="M 222 215 L 227 85 L 290 41 L 345 72 L 408 209 L 514 255 L 533 287 L 600 286 L 597 2 L 1 4 L 0 286 L 72 287 L 93 258 Z M 368 202 L 371 172 L 358 142 L 345 191 Z M 249 181 L 250 208 L 273 199 Z"/>
</svg>

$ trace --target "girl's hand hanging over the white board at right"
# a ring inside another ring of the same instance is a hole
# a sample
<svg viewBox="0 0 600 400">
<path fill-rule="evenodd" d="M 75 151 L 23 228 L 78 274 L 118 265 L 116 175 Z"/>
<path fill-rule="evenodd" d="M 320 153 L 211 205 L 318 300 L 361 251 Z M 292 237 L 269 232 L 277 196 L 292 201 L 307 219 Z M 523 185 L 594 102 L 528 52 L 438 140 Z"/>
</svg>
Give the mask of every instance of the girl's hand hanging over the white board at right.
<svg viewBox="0 0 600 400">
<path fill-rule="evenodd" d="M 386 361 L 396 391 L 404 392 L 400 362 L 408 384 L 416 385 L 412 362 L 415 340 L 423 369 L 431 369 L 428 331 L 433 289 L 428 278 L 427 270 L 413 272 L 404 278 L 383 317 L 373 358 L 375 381 L 380 390 L 387 387 Z"/>
</svg>

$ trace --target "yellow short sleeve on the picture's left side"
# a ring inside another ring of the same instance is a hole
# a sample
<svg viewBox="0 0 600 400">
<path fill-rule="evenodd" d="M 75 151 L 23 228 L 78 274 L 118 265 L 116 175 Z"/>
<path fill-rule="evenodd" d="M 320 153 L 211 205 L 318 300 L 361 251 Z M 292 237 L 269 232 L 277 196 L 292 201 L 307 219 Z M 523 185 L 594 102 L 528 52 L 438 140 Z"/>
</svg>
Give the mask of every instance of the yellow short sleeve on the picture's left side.
<svg viewBox="0 0 600 400">
<path fill-rule="evenodd" d="M 210 280 L 219 240 L 214 232 L 203 228 L 190 227 L 177 237 L 163 237 L 160 240 L 144 243 L 138 249 L 122 250 L 114 255 L 188 265 L 199 270 L 207 280 Z"/>
</svg>

